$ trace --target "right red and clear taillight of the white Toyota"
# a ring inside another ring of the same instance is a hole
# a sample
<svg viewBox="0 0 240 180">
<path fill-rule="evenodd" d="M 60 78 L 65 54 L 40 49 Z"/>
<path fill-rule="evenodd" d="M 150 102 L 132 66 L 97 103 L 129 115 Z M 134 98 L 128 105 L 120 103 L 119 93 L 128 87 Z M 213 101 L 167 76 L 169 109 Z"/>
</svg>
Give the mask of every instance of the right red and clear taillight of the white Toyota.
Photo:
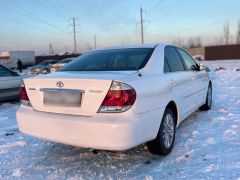
<svg viewBox="0 0 240 180">
<path fill-rule="evenodd" d="M 136 100 L 136 91 L 129 85 L 113 81 L 98 112 L 124 112 L 129 110 Z"/>
</svg>

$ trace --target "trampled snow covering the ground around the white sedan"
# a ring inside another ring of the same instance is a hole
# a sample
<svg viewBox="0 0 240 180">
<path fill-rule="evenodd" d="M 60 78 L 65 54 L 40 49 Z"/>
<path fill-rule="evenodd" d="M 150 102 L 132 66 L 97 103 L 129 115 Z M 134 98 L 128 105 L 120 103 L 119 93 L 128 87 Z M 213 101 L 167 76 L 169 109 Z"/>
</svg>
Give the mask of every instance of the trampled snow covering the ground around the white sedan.
<svg viewBox="0 0 240 180">
<path fill-rule="evenodd" d="M 124 152 L 46 142 L 16 127 L 19 104 L 0 104 L 0 179 L 240 179 L 240 61 L 204 62 L 211 69 L 213 107 L 177 130 L 172 153 L 145 145 Z"/>
</svg>

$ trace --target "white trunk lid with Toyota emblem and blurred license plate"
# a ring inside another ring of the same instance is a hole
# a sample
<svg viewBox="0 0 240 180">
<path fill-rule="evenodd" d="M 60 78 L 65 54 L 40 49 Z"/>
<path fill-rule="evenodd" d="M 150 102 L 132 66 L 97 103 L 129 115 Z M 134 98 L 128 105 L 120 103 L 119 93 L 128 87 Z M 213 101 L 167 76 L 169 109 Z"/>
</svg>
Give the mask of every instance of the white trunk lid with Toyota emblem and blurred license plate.
<svg viewBox="0 0 240 180">
<path fill-rule="evenodd" d="M 24 80 L 37 111 L 93 116 L 103 102 L 112 80 L 136 72 L 57 72 Z"/>
</svg>

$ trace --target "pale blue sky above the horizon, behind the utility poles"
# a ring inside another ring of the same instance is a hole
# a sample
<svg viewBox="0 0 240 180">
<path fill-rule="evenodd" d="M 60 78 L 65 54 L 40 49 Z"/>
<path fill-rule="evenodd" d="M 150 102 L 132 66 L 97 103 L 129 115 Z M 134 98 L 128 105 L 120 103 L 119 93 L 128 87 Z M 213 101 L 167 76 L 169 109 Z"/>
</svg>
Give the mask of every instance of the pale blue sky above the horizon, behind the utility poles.
<svg viewBox="0 0 240 180">
<path fill-rule="evenodd" d="M 77 18 L 78 51 L 97 46 L 140 43 L 140 6 L 146 43 L 200 36 L 220 38 L 223 24 L 235 36 L 240 0 L 1 0 L 0 51 L 73 51 L 71 17 Z"/>
</svg>

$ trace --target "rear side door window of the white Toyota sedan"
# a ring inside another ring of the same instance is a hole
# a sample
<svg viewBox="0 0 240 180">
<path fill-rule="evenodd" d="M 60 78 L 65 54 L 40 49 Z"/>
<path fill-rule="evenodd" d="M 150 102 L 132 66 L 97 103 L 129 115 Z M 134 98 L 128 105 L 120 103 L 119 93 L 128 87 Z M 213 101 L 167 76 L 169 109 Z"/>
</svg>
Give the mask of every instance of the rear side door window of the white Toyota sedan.
<svg viewBox="0 0 240 180">
<path fill-rule="evenodd" d="M 167 72 L 168 68 L 171 72 L 185 70 L 183 62 L 174 47 L 165 47 L 164 56 L 164 72 Z"/>
</svg>

